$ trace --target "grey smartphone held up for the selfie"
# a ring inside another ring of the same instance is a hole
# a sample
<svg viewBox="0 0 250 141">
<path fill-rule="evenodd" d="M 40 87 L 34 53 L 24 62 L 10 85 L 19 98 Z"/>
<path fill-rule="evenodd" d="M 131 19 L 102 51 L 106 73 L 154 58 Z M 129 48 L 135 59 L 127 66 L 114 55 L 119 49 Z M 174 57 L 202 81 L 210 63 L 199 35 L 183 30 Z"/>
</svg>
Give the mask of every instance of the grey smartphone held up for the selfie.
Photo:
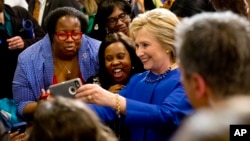
<svg viewBox="0 0 250 141">
<path fill-rule="evenodd" d="M 51 85 L 49 87 L 50 94 L 52 96 L 64 96 L 74 98 L 77 93 L 77 89 L 82 85 L 80 78 L 67 80 L 58 84 Z"/>
</svg>

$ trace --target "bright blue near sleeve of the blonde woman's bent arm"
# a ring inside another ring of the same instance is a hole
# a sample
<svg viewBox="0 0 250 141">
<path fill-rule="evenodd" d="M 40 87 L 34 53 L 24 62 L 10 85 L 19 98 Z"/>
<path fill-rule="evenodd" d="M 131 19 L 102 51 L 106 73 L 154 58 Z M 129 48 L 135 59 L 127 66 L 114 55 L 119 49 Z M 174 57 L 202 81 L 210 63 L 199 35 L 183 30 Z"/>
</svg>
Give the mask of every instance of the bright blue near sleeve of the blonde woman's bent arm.
<svg viewBox="0 0 250 141">
<path fill-rule="evenodd" d="M 149 104 L 127 98 L 126 105 L 125 124 L 145 128 L 179 125 L 185 115 L 192 111 L 180 83 L 160 104 Z"/>
</svg>

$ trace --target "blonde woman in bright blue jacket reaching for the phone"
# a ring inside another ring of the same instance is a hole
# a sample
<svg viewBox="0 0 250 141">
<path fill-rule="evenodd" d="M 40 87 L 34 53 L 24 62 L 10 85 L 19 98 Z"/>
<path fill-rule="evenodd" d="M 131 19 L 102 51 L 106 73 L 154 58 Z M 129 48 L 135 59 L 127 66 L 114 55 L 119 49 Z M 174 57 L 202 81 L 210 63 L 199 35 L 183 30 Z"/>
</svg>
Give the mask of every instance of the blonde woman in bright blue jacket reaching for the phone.
<svg viewBox="0 0 250 141">
<path fill-rule="evenodd" d="M 147 71 L 135 74 L 116 94 L 97 84 L 78 89 L 76 98 L 92 103 L 89 106 L 103 122 L 120 118 L 129 126 L 131 141 L 166 141 L 192 112 L 176 64 L 174 35 L 178 24 L 175 14 L 164 8 L 138 15 L 130 33 Z"/>
</svg>

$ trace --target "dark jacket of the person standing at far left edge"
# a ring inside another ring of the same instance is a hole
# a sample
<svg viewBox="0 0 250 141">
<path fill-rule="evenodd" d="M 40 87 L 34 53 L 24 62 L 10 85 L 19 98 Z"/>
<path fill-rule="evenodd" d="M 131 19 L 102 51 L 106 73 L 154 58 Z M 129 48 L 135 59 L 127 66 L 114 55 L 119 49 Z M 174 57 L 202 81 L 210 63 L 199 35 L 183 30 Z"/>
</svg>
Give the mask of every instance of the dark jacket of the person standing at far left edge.
<svg viewBox="0 0 250 141">
<path fill-rule="evenodd" d="M 11 17 L 13 36 L 21 36 L 24 41 L 25 48 L 40 40 L 44 35 L 44 31 L 38 25 L 36 20 L 28 13 L 28 11 L 20 6 L 10 7 L 4 5 L 4 10 Z M 22 26 L 23 20 L 31 20 L 33 23 L 33 29 L 35 33 L 35 39 L 27 37 L 26 32 Z M 0 99 L 12 98 L 12 79 L 17 65 L 17 57 L 24 49 L 9 50 L 6 40 L 10 36 L 3 30 L 0 30 Z"/>
</svg>

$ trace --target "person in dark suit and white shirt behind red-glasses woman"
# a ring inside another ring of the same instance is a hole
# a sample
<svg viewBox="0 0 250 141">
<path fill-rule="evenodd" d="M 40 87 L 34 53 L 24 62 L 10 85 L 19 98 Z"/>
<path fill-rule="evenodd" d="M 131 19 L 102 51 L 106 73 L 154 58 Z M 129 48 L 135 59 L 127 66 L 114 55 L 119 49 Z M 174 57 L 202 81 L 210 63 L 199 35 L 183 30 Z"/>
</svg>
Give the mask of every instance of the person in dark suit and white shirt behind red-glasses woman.
<svg viewBox="0 0 250 141">
<path fill-rule="evenodd" d="M 45 17 L 56 8 L 64 6 L 81 10 L 80 4 L 76 0 L 29 0 L 28 11 L 46 31 Z"/>
</svg>

